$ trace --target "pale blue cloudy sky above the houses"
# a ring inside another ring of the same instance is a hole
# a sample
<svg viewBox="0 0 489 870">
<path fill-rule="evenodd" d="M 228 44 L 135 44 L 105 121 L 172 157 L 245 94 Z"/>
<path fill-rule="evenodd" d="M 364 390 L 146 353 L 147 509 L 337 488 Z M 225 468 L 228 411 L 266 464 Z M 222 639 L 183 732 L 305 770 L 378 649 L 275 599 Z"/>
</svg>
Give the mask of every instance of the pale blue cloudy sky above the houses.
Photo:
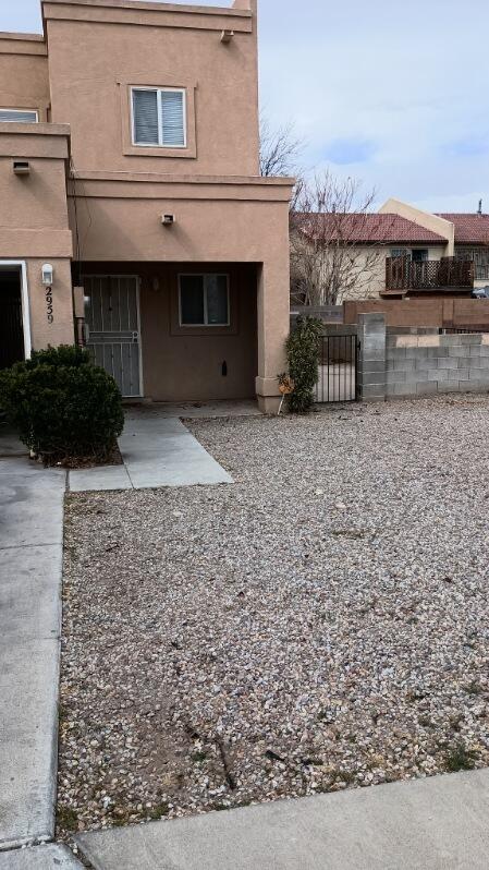
<svg viewBox="0 0 489 870">
<path fill-rule="evenodd" d="M 488 0 L 259 0 L 259 26 L 261 109 L 306 170 L 489 212 Z M 38 0 L 0 0 L 0 31 L 40 29 Z"/>
</svg>

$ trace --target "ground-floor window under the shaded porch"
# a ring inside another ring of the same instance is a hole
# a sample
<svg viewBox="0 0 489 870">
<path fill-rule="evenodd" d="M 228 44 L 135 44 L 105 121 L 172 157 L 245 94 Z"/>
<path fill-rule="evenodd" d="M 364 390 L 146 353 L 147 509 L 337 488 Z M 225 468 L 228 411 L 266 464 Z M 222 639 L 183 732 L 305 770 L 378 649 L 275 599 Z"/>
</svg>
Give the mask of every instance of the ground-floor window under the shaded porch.
<svg viewBox="0 0 489 870">
<path fill-rule="evenodd" d="M 181 326 L 229 326 L 229 276 L 180 275 Z"/>
</svg>

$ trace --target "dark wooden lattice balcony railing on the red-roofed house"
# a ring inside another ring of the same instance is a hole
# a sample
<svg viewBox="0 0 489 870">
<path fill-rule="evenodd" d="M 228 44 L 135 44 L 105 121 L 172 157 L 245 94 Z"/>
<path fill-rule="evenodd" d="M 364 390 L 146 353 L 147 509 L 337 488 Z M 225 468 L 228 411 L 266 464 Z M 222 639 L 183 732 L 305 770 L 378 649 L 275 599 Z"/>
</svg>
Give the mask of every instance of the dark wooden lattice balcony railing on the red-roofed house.
<svg viewBox="0 0 489 870">
<path fill-rule="evenodd" d="M 413 261 L 411 257 L 387 257 L 386 289 L 443 290 L 474 287 L 474 263 L 442 257 L 441 259 Z"/>
</svg>

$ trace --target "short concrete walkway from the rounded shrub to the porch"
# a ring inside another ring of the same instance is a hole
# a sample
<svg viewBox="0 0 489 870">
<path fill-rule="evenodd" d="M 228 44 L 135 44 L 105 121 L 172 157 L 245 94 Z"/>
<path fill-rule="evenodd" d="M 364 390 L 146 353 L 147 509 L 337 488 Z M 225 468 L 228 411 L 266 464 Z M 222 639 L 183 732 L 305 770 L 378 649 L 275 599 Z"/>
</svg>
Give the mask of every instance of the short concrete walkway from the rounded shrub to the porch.
<svg viewBox="0 0 489 870">
<path fill-rule="evenodd" d="M 178 418 L 152 408 L 126 413 L 119 447 L 123 466 L 70 471 L 70 491 L 149 490 L 233 482 Z"/>
</svg>

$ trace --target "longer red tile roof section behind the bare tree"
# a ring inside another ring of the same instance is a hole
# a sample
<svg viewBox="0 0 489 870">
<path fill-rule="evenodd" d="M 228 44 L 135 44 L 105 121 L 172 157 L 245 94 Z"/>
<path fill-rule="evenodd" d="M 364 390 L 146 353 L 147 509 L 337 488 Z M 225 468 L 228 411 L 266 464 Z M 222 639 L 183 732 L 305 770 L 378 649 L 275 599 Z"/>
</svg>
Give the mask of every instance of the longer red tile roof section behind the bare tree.
<svg viewBox="0 0 489 870">
<path fill-rule="evenodd" d="M 431 230 L 420 227 L 414 220 L 391 214 L 347 214 L 347 215 L 297 215 L 305 232 L 317 234 L 325 233 L 325 238 L 332 240 L 338 237 L 345 242 L 360 244 L 447 244 L 447 239 Z M 319 230 L 318 219 L 325 223 Z"/>
</svg>

